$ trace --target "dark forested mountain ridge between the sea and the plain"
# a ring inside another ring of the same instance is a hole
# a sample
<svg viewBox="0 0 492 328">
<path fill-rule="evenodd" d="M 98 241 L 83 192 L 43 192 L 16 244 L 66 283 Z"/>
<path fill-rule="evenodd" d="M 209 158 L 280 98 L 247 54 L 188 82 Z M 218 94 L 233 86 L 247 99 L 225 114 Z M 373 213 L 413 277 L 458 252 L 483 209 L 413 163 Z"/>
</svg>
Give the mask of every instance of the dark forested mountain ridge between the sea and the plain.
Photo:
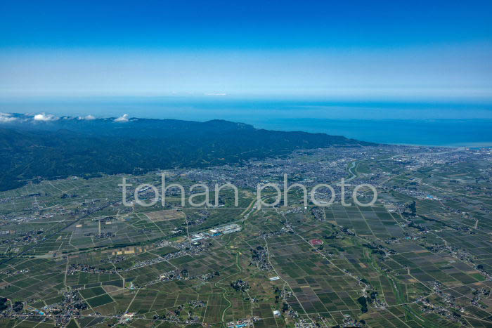
<svg viewBox="0 0 492 328">
<path fill-rule="evenodd" d="M 371 145 L 324 133 L 267 131 L 221 120 L 60 119 L 4 126 L 9 129 L 0 129 L 1 190 L 37 177 L 238 164 L 296 149 Z"/>
</svg>

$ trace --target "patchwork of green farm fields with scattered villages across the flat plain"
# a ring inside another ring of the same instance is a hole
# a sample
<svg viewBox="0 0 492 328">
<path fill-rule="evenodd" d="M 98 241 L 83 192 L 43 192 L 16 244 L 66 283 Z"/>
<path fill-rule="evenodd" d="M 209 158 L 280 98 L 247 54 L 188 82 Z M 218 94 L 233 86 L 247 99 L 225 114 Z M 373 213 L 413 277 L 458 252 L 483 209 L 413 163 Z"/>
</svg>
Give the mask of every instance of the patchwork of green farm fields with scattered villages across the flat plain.
<svg viewBox="0 0 492 328">
<path fill-rule="evenodd" d="M 354 164 L 369 207 L 124 206 L 122 176 L 1 192 L 0 326 L 491 327 L 491 156 L 443 156 Z"/>
</svg>

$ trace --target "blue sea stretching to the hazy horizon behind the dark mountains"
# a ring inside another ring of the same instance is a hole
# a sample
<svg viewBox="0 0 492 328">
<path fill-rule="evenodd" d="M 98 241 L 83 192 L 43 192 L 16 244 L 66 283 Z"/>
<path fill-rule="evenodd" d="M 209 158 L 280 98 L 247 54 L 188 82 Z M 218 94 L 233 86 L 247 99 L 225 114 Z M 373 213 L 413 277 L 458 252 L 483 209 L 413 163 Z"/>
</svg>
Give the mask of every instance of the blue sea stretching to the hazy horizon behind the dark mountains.
<svg viewBox="0 0 492 328">
<path fill-rule="evenodd" d="M 258 129 L 306 131 L 375 143 L 492 146 L 492 102 L 232 98 L 79 97 L 0 100 L 0 112 L 58 116 L 226 119 Z"/>
</svg>

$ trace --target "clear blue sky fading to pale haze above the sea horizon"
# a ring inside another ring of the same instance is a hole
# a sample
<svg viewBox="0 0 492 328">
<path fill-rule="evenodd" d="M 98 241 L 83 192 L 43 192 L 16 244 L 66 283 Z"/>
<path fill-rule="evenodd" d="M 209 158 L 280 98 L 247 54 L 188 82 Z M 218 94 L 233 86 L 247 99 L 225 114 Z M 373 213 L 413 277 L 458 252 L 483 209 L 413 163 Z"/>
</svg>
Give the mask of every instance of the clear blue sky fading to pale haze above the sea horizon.
<svg viewBox="0 0 492 328">
<path fill-rule="evenodd" d="M 1 1 L 0 98 L 492 98 L 491 1 Z"/>
</svg>

